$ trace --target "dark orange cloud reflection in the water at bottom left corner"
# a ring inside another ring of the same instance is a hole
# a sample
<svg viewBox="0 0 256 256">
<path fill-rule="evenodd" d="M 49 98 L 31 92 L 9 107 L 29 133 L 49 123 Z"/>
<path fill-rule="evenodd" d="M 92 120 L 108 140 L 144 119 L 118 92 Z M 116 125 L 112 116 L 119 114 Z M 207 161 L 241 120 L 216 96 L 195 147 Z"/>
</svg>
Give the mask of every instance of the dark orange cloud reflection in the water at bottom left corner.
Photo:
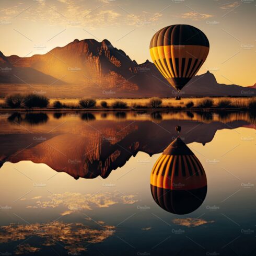
<svg viewBox="0 0 256 256">
<path fill-rule="evenodd" d="M 43 239 L 42 246 L 54 246 L 57 243 L 64 244 L 68 254 L 75 254 L 79 251 L 85 251 L 85 243 L 99 243 L 114 234 L 113 226 L 103 226 L 99 229 L 90 228 L 82 223 L 35 223 L 21 225 L 11 223 L 8 226 L 0 227 L 0 240 L 2 243 L 9 243 L 18 240 L 28 239 L 31 236 Z M 37 252 L 39 248 L 32 247 L 29 244 L 20 245 L 16 254 L 26 254 Z"/>
</svg>

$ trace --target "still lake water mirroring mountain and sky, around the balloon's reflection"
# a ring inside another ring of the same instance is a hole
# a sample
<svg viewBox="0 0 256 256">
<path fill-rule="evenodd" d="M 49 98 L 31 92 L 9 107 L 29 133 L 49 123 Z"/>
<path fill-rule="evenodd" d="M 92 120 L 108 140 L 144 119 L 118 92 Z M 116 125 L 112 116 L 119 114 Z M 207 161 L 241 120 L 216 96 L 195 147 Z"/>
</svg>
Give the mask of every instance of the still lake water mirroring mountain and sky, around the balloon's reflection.
<svg viewBox="0 0 256 256">
<path fill-rule="evenodd" d="M 2 255 L 256 254 L 255 114 L 2 112 L 0 123 Z M 172 198 L 185 214 L 150 191 L 176 125 L 207 178 L 196 209 Z"/>
</svg>

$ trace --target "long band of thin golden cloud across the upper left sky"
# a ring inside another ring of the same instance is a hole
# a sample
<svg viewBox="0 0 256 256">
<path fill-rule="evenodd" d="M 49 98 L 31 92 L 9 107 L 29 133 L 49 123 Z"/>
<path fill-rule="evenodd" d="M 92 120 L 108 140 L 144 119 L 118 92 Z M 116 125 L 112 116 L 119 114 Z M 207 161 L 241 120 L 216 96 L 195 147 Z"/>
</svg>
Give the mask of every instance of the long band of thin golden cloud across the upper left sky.
<svg viewBox="0 0 256 256">
<path fill-rule="evenodd" d="M 110 3 L 112 1 L 102 0 L 102 2 Z M 84 6 L 82 0 L 58 0 L 54 5 L 45 4 L 42 1 L 42 3 L 38 2 L 37 5 L 33 5 L 30 8 L 25 5 L 1 8 L 0 15 L 2 20 L 7 20 L 20 14 L 17 18 L 29 22 L 44 21 L 48 25 L 83 27 L 86 30 L 112 25 L 137 27 L 154 25 L 162 16 L 161 13 L 150 13 L 148 11 L 142 11 L 139 15 L 129 14 L 125 13 L 121 8 L 110 4 L 92 5 L 92 7 L 86 5 L 86 9 L 81 8 L 81 6 Z"/>
</svg>

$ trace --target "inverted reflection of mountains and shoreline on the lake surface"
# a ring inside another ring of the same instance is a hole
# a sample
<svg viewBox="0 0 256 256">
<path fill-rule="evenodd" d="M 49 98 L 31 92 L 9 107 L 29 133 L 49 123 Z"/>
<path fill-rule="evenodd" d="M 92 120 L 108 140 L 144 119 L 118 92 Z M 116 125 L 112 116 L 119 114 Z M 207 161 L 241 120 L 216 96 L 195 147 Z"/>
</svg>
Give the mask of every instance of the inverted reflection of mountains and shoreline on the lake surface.
<svg viewBox="0 0 256 256">
<path fill-rule="evenodd" d="M 0 116 L 0 160 L 31 160 L 75 179 L 107 178 L 139 151 L 161 153 L 182 127 L 185 144 L 211 142 L 222 129 L 254 127 L 242 112 L 14 112 Z"/>
</svg>

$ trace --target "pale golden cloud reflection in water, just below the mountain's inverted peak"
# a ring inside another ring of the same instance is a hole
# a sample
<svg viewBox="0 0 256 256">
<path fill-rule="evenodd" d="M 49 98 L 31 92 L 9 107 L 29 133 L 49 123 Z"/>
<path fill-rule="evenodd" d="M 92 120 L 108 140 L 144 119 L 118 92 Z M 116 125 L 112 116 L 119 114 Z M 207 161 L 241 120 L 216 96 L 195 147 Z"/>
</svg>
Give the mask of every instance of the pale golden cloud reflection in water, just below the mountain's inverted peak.
<svg viewBox="0 0 256 256">
<path fill-rule="evenodd" d="M 93 210 L 94 208 L 107 208 L 114 204 L 134 204 L 138 202 L 137 195 L 122 195 L 118 191 L 104 192 L 97 194 L 81 194 L 65 192 L 52 194 L 44 200 L 38 200 L 36 205 L 28 205 L 27 208 L 56 208 L 67 207 L 67 211 L 62 214 L 71 214 L 80 210 Z"/>
</svg>

